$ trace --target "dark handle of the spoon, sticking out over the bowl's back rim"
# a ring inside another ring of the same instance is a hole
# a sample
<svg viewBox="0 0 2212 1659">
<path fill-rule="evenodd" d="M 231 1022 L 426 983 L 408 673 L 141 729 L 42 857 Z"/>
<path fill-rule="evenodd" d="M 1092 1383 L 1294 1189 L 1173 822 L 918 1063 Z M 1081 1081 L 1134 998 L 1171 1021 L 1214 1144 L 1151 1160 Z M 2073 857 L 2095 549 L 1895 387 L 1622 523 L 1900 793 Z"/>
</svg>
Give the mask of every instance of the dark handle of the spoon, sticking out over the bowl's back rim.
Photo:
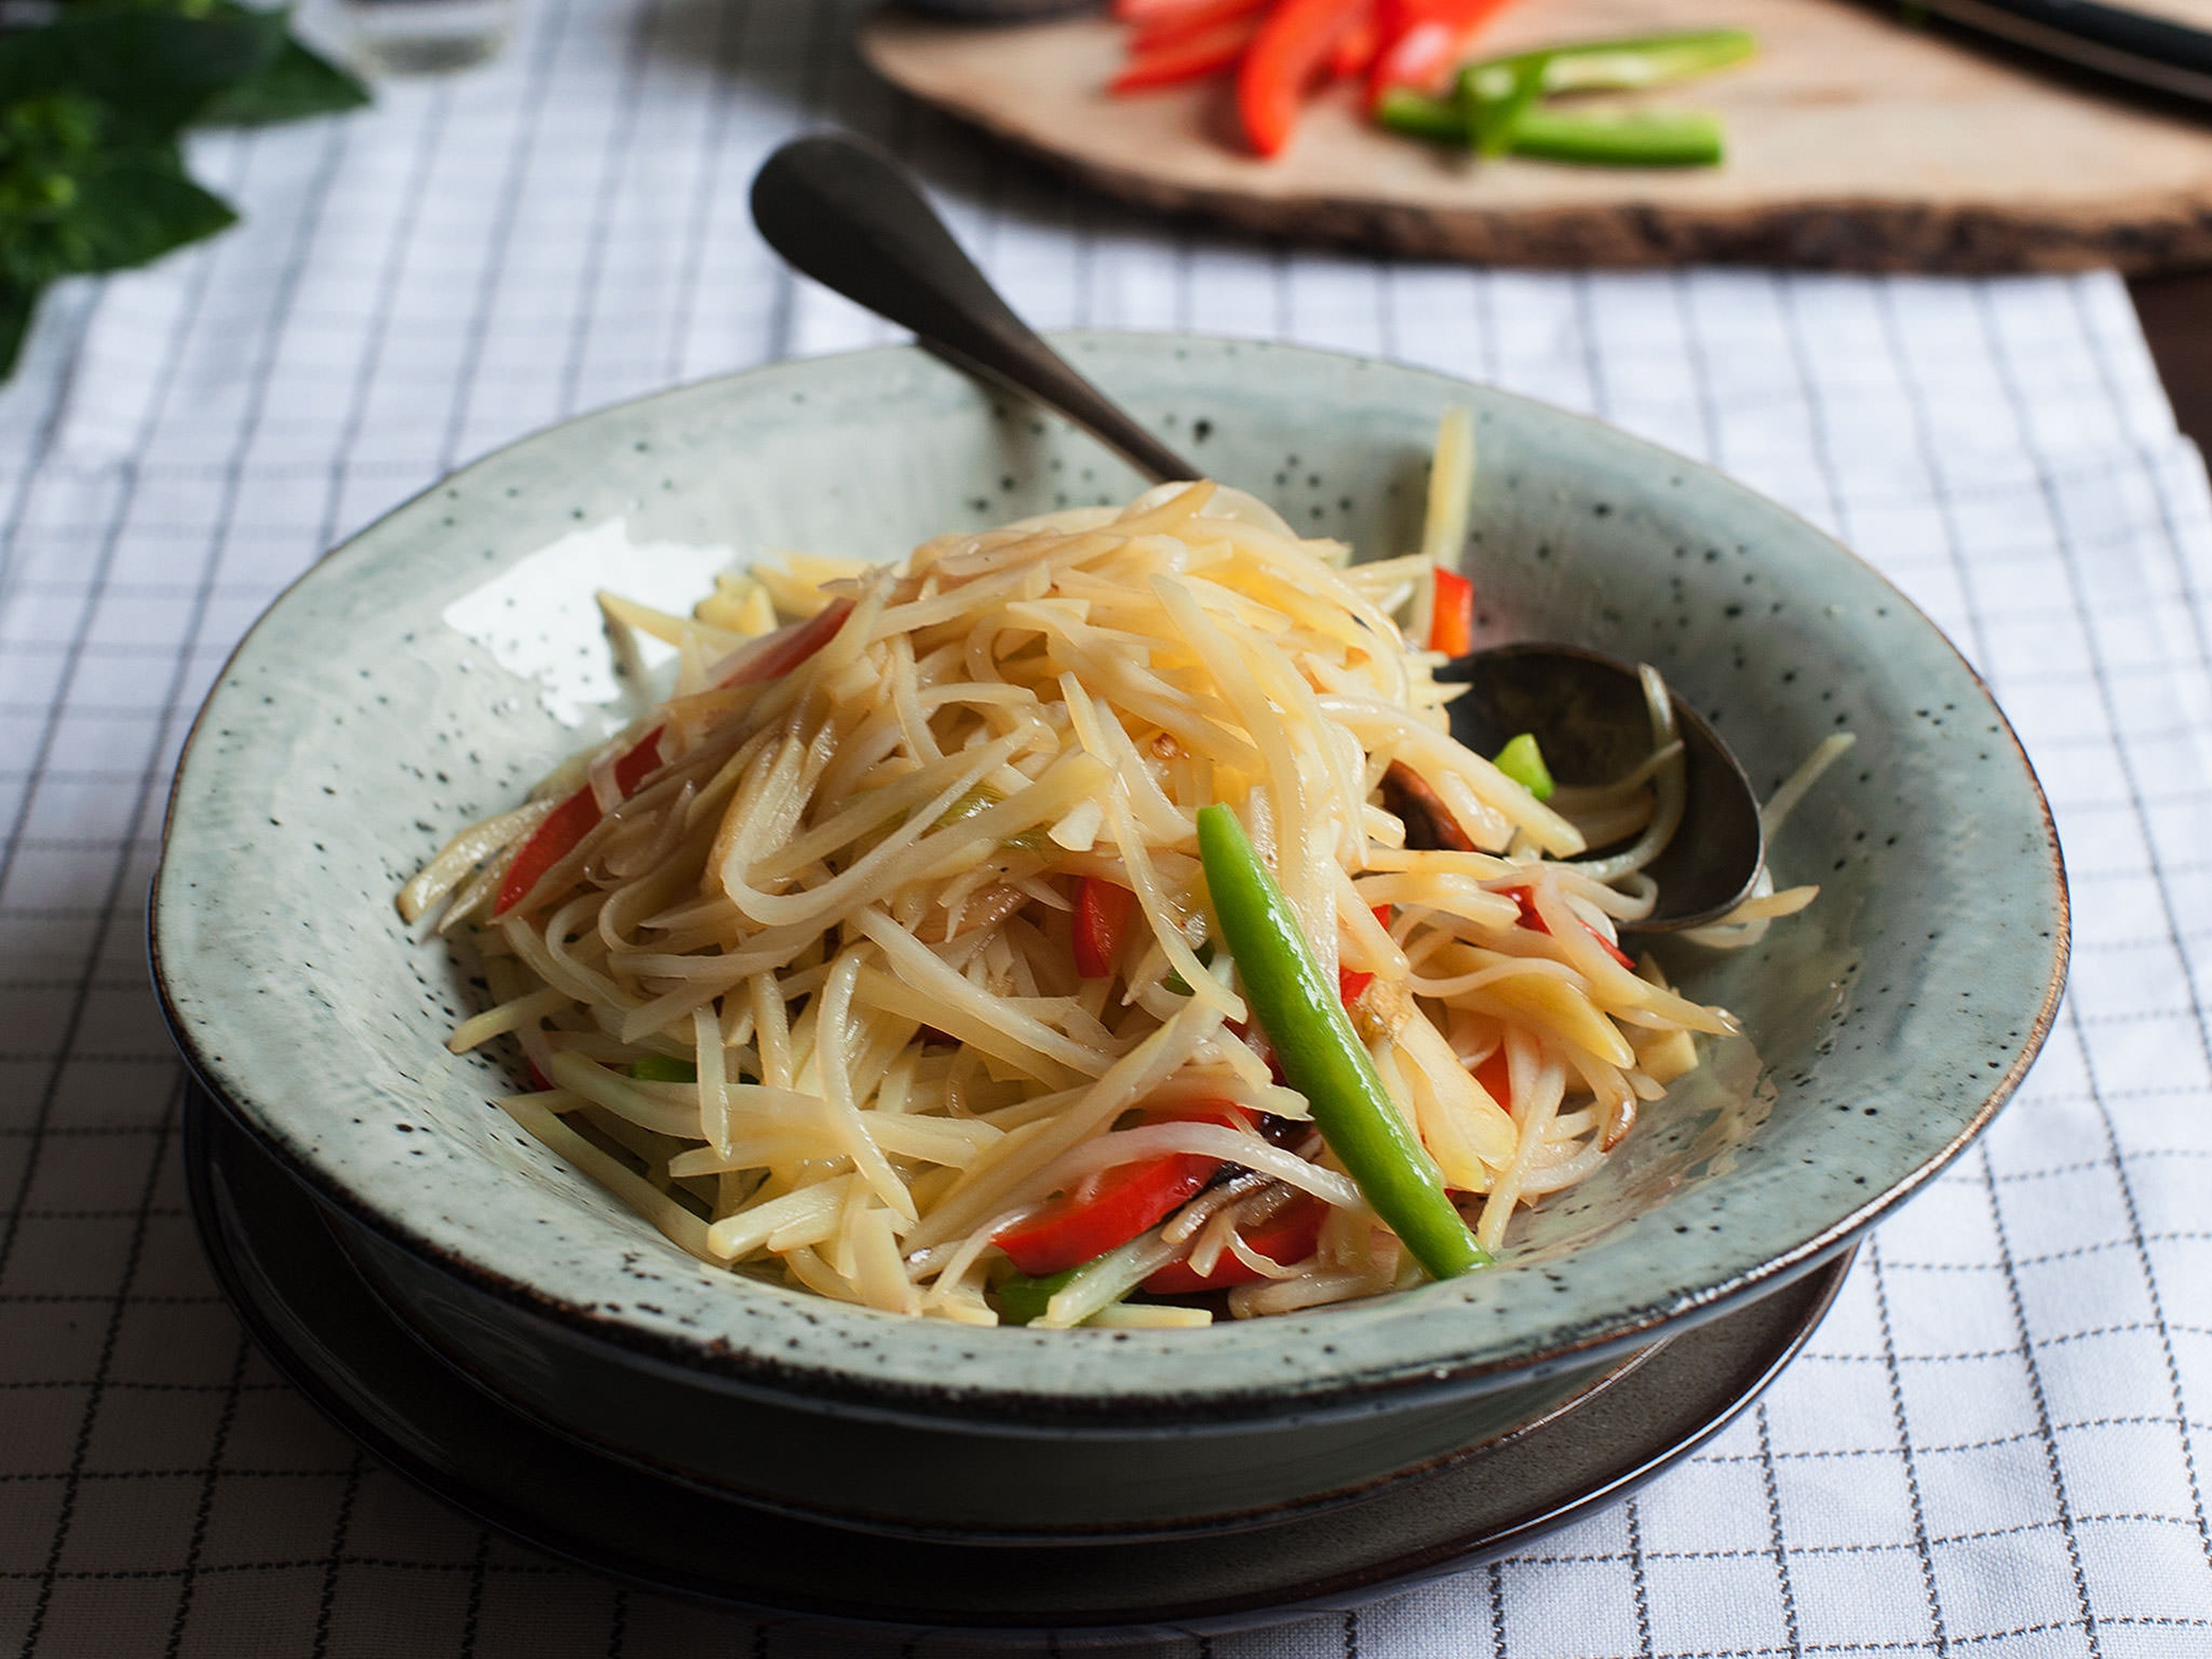
<svg viewBox="0 0 2212 1659">
<path fill-rule="evenodd" d="M 1013 314 L 914 177 L 874 144 L 834 133 L 785 144 L 752 179 L 752 221 L 794 270 L 911 327 L 956 367 L 1055 409 L 1152 482 L 1201 476 Z"/>
</svg>

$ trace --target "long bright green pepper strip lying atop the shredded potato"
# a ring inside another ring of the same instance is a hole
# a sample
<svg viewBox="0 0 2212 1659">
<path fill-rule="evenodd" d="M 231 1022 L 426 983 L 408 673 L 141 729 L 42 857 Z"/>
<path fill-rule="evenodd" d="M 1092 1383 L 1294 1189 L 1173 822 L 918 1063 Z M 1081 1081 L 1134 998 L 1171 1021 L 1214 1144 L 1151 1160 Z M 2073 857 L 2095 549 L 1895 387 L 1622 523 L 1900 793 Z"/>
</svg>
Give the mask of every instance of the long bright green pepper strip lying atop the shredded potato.
<svg viewBox="0 0 2212 1659">
<path fill-rule="evenodd" d="M 1290 900 L 1225 805 L 1199 807 L 1199 863 L 1237 978 L 1283 1077 L 1305 1095 L 1321 1137 L 1360 1194 L 1431 1276 L 1453 1279 L 1489 1263 L 1436 1161 L 1383 1088 L 1336 984 L 1323 982 Z"/>
</svg>

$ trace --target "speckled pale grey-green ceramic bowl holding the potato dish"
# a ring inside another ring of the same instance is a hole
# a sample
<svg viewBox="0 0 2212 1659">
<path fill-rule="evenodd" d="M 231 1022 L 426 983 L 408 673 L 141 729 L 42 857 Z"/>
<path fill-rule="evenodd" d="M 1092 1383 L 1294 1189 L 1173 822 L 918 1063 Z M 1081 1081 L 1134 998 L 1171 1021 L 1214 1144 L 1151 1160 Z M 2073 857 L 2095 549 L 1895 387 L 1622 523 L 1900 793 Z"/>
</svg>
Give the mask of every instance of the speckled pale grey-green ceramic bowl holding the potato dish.
<svg viewBox="0 0 2212 1659">
<path fill-rule="evenodd" d="M 1526 1214 L 1500 1267 L 1310 1316 L 971 1329 L 679 1254 L 487 1104 L 515 1079 L 445 1051 L 476 993 L 392 894 L 604 730 L 597 586 L 675 602 L 754 549 L 894 557 L 1139 489 L 916 349 L 757 369 L 538 434 L 354 538 L 248 635 L 177 774 L 153 918 L 177 1040 L 440 1347 L 577 1433 L 810 1513 L 1225 1524 L 1451 1455 L 1540 1409 L 1478 1396 L 1582 1387 L 1783 1283 L 1989 1121 L 2064 978 L 2057 841 L 1986 690 L 1880 575 L 1739 484 L 1526 398 L 1254 343 L 1064 345 L 1214 476 L 1367 555 L 1411 544 L 1438 414 L 1469 403 L 1489 630 L 1657 664 L 1761 787 L 1858 737 L 1772 847 L 1820 900 L 1752 951 L 1661 947 L 1747 1042 Z M 737 1427 L 644 1444 L 646 1396 Z M 748 1458 L 763 1436 L 790 1438 L 792 1467 Z M 1053 1473 L 1071 1447 L 1093 1475 Z"/>
</svg>

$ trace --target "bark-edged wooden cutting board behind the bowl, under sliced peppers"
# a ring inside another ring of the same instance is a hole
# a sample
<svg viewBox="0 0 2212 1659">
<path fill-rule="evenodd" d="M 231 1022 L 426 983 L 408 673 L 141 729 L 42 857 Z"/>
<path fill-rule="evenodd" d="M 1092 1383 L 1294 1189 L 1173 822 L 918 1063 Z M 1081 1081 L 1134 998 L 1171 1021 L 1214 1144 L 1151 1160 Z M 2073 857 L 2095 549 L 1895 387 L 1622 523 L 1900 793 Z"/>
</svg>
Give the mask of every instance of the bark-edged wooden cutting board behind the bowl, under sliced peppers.
<svg viewBox="0 0 2212 1659">
<path fill-rule="evenodd" d="M 2212 22 L 2212 0 L 2161 0 Z M 1843 270 L 2212 265 L 2212 119 L 1900 27 L 1851 0 L 1522 0 L 1484 51 L 1741 24 L 1761 58 L 1650 93 L 1728 122 L 1694 173 L 1473 164 L 1378 133 L 1349 86 L 1287 155 L 1234 137 L 1225 82 L 1102 91 L 1121 31 L 1099 15 L 964 27 L 880 11 L 860 51 L 885 77 L 1148 208 L 1296 241 L 1498 265 L 1756 261 Z"/>
</svg>

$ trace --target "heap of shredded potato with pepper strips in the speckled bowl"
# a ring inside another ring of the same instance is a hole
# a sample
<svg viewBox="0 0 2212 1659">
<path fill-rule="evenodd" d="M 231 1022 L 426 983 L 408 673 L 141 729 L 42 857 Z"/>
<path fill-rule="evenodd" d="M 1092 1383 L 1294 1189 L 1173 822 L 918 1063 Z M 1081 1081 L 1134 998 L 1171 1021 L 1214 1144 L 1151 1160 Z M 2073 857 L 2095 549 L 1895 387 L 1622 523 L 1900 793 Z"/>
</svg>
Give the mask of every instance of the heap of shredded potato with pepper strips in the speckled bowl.
<svg viewBox="0 0 2212 1659">
<path fill-rule="evenodd" d="M 1464 411 L 1438 476 L 1442 538 Z M 1475 1265 L 1730 1020 L 1613 951 L 1679 792 L 1663 688 L 1635 776 L 1544 805 L 1449 737 L 1400 633 L 1436 586 L 1199 482 L 763 560 L 708 622 L 613 604 L 670 697 L 400 894 L 482 958 L 451 1046 L 513 1040 L 515 1121 L 679 1248 L 883 1312 L 1192 1325 Z M 1469 849 L 1407 845 L 1402 790 Z"/>
</svg>

